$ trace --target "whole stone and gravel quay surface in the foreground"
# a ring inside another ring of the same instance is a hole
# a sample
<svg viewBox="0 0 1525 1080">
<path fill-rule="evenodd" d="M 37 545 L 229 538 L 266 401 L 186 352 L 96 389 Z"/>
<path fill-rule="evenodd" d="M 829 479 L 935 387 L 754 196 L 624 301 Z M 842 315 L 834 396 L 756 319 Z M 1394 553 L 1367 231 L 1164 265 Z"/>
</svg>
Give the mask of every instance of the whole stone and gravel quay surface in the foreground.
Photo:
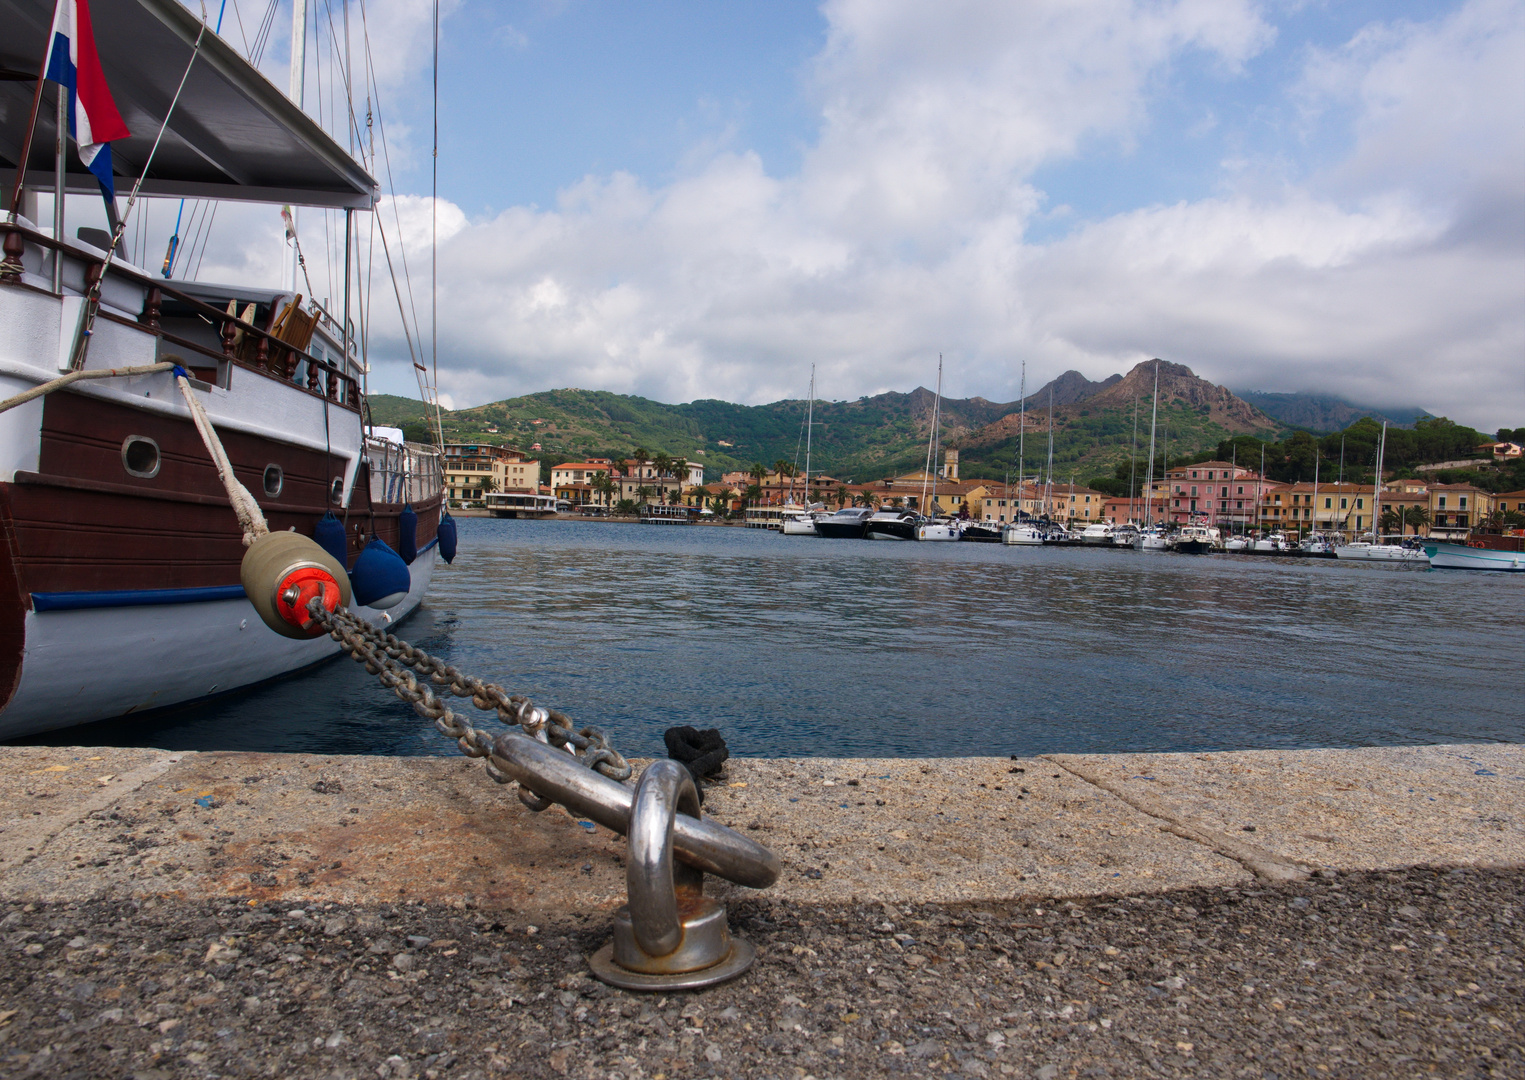
<svg viewBox="0 0 1525 1080">
<path fill-rule="evenodd" d="M 5 1075 L 1519 1075 L 1525 747 L 734 760 L 738 981 L 465 758 L 0 749 Z"/>
</svg>

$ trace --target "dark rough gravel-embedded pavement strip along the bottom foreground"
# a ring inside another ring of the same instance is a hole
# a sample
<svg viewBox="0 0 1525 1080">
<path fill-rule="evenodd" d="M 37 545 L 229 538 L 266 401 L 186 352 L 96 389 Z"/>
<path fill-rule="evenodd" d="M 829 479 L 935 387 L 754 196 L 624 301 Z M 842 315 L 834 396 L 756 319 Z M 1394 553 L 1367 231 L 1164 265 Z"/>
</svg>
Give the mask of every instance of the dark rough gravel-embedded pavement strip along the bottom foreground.
<svg viewBox="0 0 1525 1080">
<path fill-rule="evenodd" d="M 0 905 L 8 1077 L 1517 1077 L 1519 871 L 1071 903 L 752 897 L 756 967 L 589 978 L 601 918 L 439 905 Z"/>
</svg>

